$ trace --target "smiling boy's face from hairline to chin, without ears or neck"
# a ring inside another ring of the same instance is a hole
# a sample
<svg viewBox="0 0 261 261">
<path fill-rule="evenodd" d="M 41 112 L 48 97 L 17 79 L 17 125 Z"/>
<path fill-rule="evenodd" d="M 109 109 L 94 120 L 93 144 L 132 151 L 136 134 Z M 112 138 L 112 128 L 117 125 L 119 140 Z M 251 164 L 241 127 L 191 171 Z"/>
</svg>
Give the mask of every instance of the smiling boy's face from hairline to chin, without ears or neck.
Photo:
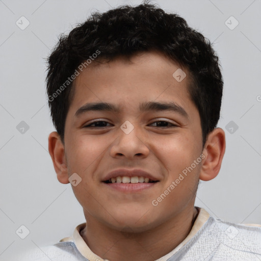
<svg viewBox="0 0 261 261">
<path fill-rule="evenodd" d="M 187 76 L 178 82 L 172 75 L 178 68 L 162 54 L 149 52 L 89 66 L 76 77 L 65 123 L 65 159 L 68 176 L 82 178 L 72 188 L 86 219 L 145 231 L 194 206 L 202 132 L 188 92 L 188 71 L 183 69 Z M 97 102 L 118 111 L 88 110 Z M 148 106 L 153 102 L 175 106 Z M 146 171 L 157 182 L 144 188 L 103 182 L 119 168 Z"/>
</svg>

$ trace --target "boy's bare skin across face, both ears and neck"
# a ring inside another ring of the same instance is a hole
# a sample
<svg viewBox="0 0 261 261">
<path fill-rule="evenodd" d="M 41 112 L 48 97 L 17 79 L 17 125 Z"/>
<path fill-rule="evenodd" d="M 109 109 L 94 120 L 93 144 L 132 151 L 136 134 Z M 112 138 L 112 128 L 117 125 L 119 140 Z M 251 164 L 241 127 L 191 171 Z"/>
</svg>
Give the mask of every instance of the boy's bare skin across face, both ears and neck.
<svg viewBox="0 0 261 261">
<path fill-rule="evenodd" d="M 183 69 L 187 77 L 177 82 L 172 74 L 178 68 L 155 51 L 139 53 L 130 61 L 119 57 L 90 65 L 74 80 L 64 143 L 57 132 L 49 135 L 49 153 L 58 180 L 67 184 L 72 173 L 82 178 L 79 185 L 72 186 L 87 221 L 81 236 L 104 259 L 150 261 L 173 250 L 187 237 L 197 215 L 198 180 L 211 180 L 220 170 L 225 133 L 215 128 L 202 147 L 200 116 L 188 92 L 189 72 Z M 120 112 L 91 111 L 74 116 L 87 102 L 101 101 L 114 103 Z M 144 101 L 174 101 L 188 118 L 173 111 L 141 113 L 139 104 Z M 108 123 L 85 127 L 95 119 Z M 120 128 L 126 120 L 134 126 L 129 134 Z M 158 121 L 175 126 L 157 126 Z M 152 200 L 201 154 L 201 163 L 153 206 Z M 101 180 L 117 168 L 140 168 L 159 182 L 135 193 L 109 189 Z"/>
</svg>

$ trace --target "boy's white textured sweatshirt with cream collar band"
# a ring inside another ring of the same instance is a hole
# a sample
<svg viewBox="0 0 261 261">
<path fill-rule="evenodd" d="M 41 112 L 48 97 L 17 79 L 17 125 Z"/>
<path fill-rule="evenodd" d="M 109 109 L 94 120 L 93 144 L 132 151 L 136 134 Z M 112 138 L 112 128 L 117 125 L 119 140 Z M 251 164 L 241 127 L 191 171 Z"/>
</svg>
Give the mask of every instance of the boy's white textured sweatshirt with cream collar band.
<svg viewBox="0 0 261 261">
<path fill-rule="evenodd" d="M 185 240 L 156 261 L 261 261 L 261 225 L 232 224 L 213 218 L 204 208 L 197 209 L 199 214 Z M 28 251 L 23 257 L 19 254 L 17 261 L 109 261 L 85 243 L 80 235 L 85 225 L 53 246 Z"/>
</svg>

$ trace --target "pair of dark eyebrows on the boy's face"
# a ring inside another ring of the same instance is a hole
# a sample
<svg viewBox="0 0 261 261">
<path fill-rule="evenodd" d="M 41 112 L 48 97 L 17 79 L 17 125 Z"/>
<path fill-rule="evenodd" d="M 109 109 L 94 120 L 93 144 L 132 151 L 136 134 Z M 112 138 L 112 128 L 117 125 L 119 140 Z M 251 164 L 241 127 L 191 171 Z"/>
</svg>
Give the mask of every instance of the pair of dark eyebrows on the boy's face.
<svg viewBox="0 0 261 261">
<path fill-rule="evenodd" d="M 155 102 L 155 101 L 148 101 L 140 103 L 140 111 L 147 112 L 147 111 L 172 111 L 189 118 L 188 113 L 185 111 L 184 108 L 177 105 L 175 102 Z M 109 111 L 109 112 L 120 112 L 120 107 L 108 103 L 108 102 L 89 102 L 86 103 L 84 106 L 80 107 L 74 117 L 79 117 L 80 115 L 90 112 L 90 111 Z"/>
</svg>

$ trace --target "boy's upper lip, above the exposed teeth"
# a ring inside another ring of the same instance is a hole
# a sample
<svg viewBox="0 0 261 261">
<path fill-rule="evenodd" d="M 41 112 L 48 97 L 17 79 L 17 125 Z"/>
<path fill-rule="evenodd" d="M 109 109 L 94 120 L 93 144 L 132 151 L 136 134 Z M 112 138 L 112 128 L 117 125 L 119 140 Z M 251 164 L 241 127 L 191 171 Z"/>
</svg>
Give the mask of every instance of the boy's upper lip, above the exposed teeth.
<svg viewBox="0 0 261 261">
<path fill-rule="evenodd" d="M 158 181 L 158 179 L 156 177 L 154 177 L 153 175 L 151 175 L 150 173 L 142 170 L 142 169 L 116 169 L 113 170 L 111 172 L 109 172 L 102 181 L 107 181 L 109 179 L 111 179 L 112 177 L 118 177 L 118 176 L 127 176 L 127 177 L 134 177 L 134 176 L 138 176 L 138 177 L 148 177 L 149 179 L 153 180 L 153 181 Z"/>
</svg>

